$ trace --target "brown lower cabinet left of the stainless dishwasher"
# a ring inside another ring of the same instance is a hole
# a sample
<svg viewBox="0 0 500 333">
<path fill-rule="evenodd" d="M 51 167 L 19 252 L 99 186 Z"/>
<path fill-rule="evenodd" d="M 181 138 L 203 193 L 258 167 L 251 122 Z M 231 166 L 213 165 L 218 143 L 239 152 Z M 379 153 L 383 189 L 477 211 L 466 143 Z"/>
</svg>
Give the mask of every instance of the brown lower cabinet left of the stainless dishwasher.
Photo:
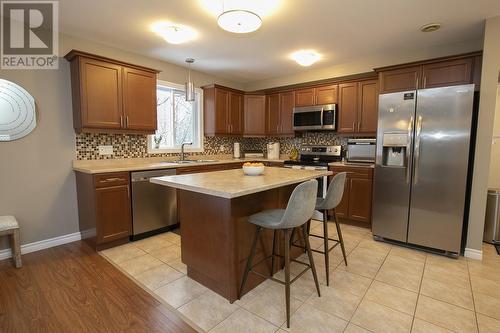
<svg viewBox="0 0 500 333">
<path fill-rule="evenodd" d="M 82 239 L 96 250 L 126 243 L 132 233 L 130 174 L 76 172 Z"/>
</svg>

